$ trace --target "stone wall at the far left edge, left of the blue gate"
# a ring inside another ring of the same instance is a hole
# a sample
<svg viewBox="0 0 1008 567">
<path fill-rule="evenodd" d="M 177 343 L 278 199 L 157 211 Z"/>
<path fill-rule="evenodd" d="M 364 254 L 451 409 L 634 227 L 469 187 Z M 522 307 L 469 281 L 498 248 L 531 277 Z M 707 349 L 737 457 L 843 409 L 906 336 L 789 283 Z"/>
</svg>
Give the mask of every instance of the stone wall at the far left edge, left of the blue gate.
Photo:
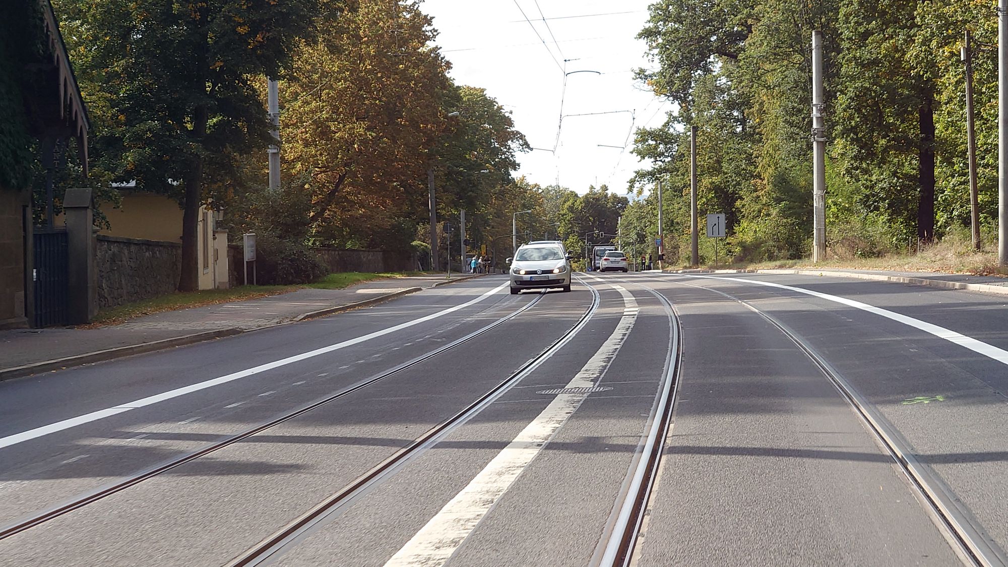
<svg viewBox="0 0 1008 567">
<path fill-rule="evenodd" d="M 27 325 L 22 201 L 19 192 L 0 187 L 0 329 Z"/>
</svg>

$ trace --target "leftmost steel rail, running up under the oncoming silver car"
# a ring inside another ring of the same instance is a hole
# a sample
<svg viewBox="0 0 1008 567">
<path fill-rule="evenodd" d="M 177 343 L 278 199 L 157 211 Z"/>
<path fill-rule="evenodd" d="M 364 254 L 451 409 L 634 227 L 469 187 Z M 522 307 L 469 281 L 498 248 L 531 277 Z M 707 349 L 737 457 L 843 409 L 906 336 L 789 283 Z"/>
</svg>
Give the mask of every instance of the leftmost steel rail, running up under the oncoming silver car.
<svg viewBox="0 0 1008 567">
<path fill-rule="evenodd" d="M 171 469 L 173 469 L 173 468 L 175 468 L 177 466 L 180 466 L 180 465 L 183 465 L 183 464 L 185 464 L 187 462 L 194 461 L 194 460 L 196 460 L 196 459 L 198 459 L 200 457 L 207 456 L 207 455 L 209 455 L 211 453 L 219 451 L 220 449 L 223 449 L 225 447 L 233 445 L 233 444 L 235 444 L 235 443 L 237 443 L 239 441 L 242 441 L 244 439 L 252 437 L 252 436 L 254 436 L 256 434 L 262 433 L 263 431 L 266 431 L 266 430 L 268 430 L 268 429 L 270 429 L 270 428 L 272 428 L 274 426 L 277 426 L 279 424 L 282 424 L 284 422 L 292 420 L 292 419 L 294 419 L 294 418 L 296 418 L 298 416 L 301 416 L 301 415 L 303 415 L 305 413 L 308 413 L 308 412 L 310 412 L 312 410 L 316 410 L 316 409 L 318 409 L 318 408 L 320 408 L 322 406 L 325 406 L 325 405 L 327 405 L 327 404 L 329 404 L 331 402 L 334 402 L 334 401 L 339 400 L 341 398 L 344 398 L 344 396 L 346 396 L 346 395 L 348 395 L 350 393 L 353 393 L 353 392 L 355 392 L 355 391 L 357 391 L 359 389 L 362 389 L 362 388 L 365 388 L 365 387 L 367 387 L 369 385 L 372 385 L 375 382 L 378 382 L 378 381 L 380 381 L 380 380 L 382 380 L 384 378 L 387 378 L 387 377 L 389 377 L 389 376 L 391 376 L 393 374 L 401 372 L 402 370 L 405 370 L 406 368 L 409 368 L 411 366 L 415 366 L 416 364 L 419 364 L 420 362 L 423 362 L 424 360 L 427 360 L 427 359 L 429 359 L 431 357 L 434 357 L 434 356 L 436 356 L 438 354 L 442 354 L 443 352 L 445 352 L 447 350 L 450 350 L 450 349 L 455 348 L 455 347 L 457 347 L 457 346 L 459 346 L 459 345 L 461 345 L 463 343 L 466 343 L 466 342 L 468 342 L 468 341 L 470 341 L 470 340 L 472 340 L 472 339 L 474 339 L 474 338 L 476 338 L 476 337 L 478 337 L 478 336 L 480 336 L 480 335 L 482 335 L 482 334 L 484 334 L 484 333 L 486 333 L 486 332 L 494 329 L 495 327 L 498 327 L 498 326 L 504 324 L 505 322 L 507 322 L 507 321 L 509 321 L 509 320 L 517 317 L 518 315 L 520 315 L 524 311 L 530 309 L 532 306 L 534 306 L 535 304 L 537 304 L 539 302 L 539 300 L 542 299 L 543 295 L 544 294 L 539 294 L 535 299 L 533 299 L 529 303 L 525 304 L 520 309 L 518 309 L 518 310 L 516 310 L 516 311 L 514 311 L 514 312 L 512 312 L 512 313 L 510 313 L 510 314 L 508 314 L 508 315 L 506 315 L 506 316 L 498 319 L 497 321 L 494 321 L 493 323 L 490 323 L 489 325 L 486 325 L 486 326 L 484 326 L 484 327 L 482 327 L 480 329 L 477 329 L 476 331 L 473 331 L 472 333 L 470 333 L 470 334 L 468 334 L 468 335 L 466 335 L 466 336 L 464 336 L 462 338 L 456 339 L 455 341 L 452 341 L 451 343 L 443 345 L 443 346 L 440 346 L 440 347 L 438 347 L 438 348 L 436 348 L 436 349 L 434 349 L 432 351 L 429 351 L 429 352 L 427 352 L 425 354 L 422 354 L 420 356 L 417 356 L 417 357 L 415 357 L 415 358 L 413 358 L 411 360 L 403 362 L 402 364 L 399 364 L 399 365 L 397 365 L 397 366 L 395 366 L 395 367 L 393 367 L 393 368 L 391 368 L 389 370 L 385 370 L 385 371 L 380 372 L 378 374 L 375 374 L 375 375 L 373 375 L 371 377 L 365 378 L 365 379 L 363 379 L 363 380 L 361 380 L 361 381 L 359 381 L 359 382 L 357 382 L 357 383 L 355 383 L 353 385 L 350 385 L 348 387 L 345 387 L 345 388 L 341 389 L 340 391 L 337 391 L 336 393 L 333 393 L 331 395 L 328 395 L 326 398 L 323 398 L 321 400 L 317 400 L 317 401 L 314 401 L 314 402 L 312 402 L 310 404 L 302 406 L 301 408 L 298 408 L 297 410 L 294 410 L 294 411 L 292 411 L 290 413 L 284 414 L 283 416 L 280 416 L 279 418 L 276 418 L 276 419 L 271 420 L 269 422 L 260 424 L 258 426 L 253 427 L 253 428 L 246 429 L 246 430 L 244 430 L 244 431 L 242 431 L 240 433 L 237 433 L 237 434 L 231 435 L 229 437 L 226 437 L 226 438 L 224 438 L 224 439 L 222 439 L 220 441 L 217 441 L 215 443 L 207 445 L 206 447 L 203 447 L 203 448 L 198 449 L 196 451 L 192 451 L 190 453 L 185 453 L 183 455 L 180 455 L 180 456 L 175 457 L 173 459 L 170 459 L 168 461 L 165 461 L 165 462 L 162 462 L 160 464 L 154 465 L 153 467 L 141 470 L 141 471 L 139 471 L 137 473 L 134 473 L 134 474 L 132 474 L 130 476 L 127 476 L 127 477 L 125 477 L 123 479 L 115 481 L 112 484 L 96 488 L 96 489 L 94 489 L 92 491 L 89 491 L 89 492 L 84 492 L 82 494 L 79 494 L 77 496 L 72 497 L 71 499 L 69 499 L 69 500 L 67 500 L 67 501 L 65 501 L 65 502 L 62 502 L 60 504 L 57 504 L 57 505 L 55 505 L 55 506 L 53 506 L 51 508 L 48 508 L 48 509 L 46 509 L 44 512 L 35 513 L 35 514 L 33 514 L 33 515 L 29 516 L 29 517 L 23 518 L 21 520 L 16 520 L 13 524 L 10 524 L 8 526 L 0 528 L 0 540 L 3 540 L 5 538 L 9 538 L 9 537 L 11 537 L 11 536 L 13 536 L 15 534 L 19 534 L 21 532 L 24 532 L 25 530 L 34 528 L 35 526 L 38 526 L 40 524 L 44 524 L 45 522 L 48 522 L 48 521 L 53 520 L 55 518 L 58 518 L 58 517 L 60 517 L 60 516 L 62 516 L 65 514 L 68 514 L 68 513 L 73 512 L 75 509 L 79 509 L 81 507 L 84 507 L 84 506 L 86 506 L 86 505 L 88 505 L 90 503 L 93 503 L 93 502 L 96 502 L 98 500 L 101 500 L 102 498 L 105 498 L 107 496 L 115 494 L 116 492 L 120 492 L 122 490 L 125 490 L 126 488 L 129 488 L 130 486 L 134 486 L 136 484 L 139 484 L 140 482 L 143 482 L 144 480 L 148 480 L 148 479 L 150 479 L 150 478 L 152 478 L 154 476 L 162 474 L 162 473 L 164 473 L 164 472 L 166 472 L 168 470 L 171 470 Z"/>
</svg>

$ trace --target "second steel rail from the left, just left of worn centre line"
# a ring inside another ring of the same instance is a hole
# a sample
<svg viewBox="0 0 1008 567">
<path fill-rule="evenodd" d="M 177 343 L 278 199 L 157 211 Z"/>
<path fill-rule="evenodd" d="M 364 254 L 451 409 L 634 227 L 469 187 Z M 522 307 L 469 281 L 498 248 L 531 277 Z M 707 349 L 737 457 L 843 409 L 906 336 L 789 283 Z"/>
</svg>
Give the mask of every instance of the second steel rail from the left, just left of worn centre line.
<svg viewBox="0 0 1008 567">
<path fill-rule="evenodd" d="M 584 284 L 584 281 L 582 281 Z M 489 391 L 481 395 L 478 400 L 470 404 L 466 409 L 452 416 L 448 420 L 437 424 L 426 433 L 412 441 L 409 445 L 399 449 L 394 454 L 386 458 L 381 463 L 374 466 L 368 472 L 362 474 L 350 484 L 344 486 L 339 491 L 333 493 L 325 500 L 319 502 L 311 509 L 302 514 L 273 535 L 262 540 L 252 548 L 227 563 L 227 567 L 245 567 L 247 565 L 262 565 L 270 562 L 287 550 L 297 545 L 303 538 L 310 535 L 322 523 L 339 513 L 345 505 L 352 503 L 359 496 L 363 495 L 381 481 L 389 478 L 399 468 L 408 461 L 423 453 L 426 449 L 433 447 L 446 435 L 468 422 L 473 416 L 479 414 L 487 406 L 492 404 L 512 385 L 535 370 L 542 362 L 552 356 L 563 347 L 575 335 L 577 335 L 588 324 L 588 321 L 595 315 L 599 308 L 600 296 L 591 286 L 586 286 L 592 292 L 592 304 L 581 316 L 573 327 L 564 331 L 555 341 L 549 344 L 541 352 L 522 364 L 511 375 L 495 385 Z"/>
</svg>

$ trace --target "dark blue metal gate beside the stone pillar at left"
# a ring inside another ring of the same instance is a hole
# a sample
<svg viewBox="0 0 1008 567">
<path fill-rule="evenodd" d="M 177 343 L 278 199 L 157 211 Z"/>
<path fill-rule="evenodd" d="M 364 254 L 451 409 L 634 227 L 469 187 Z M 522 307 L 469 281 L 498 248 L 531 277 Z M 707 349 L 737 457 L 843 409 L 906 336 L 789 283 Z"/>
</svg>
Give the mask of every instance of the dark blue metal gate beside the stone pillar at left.
<svg viewBox="0 0 1008 567">
<path fill-rule="evenodd" d="M 67 230 L 35 228 L 34 246 L 35 318 L 33 327 L 67 323 Z"/>
</svg>

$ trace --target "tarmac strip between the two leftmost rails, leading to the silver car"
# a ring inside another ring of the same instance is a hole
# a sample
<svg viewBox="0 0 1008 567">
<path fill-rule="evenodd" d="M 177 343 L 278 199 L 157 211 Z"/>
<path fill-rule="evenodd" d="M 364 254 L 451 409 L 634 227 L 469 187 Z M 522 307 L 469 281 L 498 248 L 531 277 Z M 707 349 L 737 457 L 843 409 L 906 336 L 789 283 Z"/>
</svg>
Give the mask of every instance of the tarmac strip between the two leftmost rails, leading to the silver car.
<svg viewBox="0 0 1008 567">
<path fill-rule="evenodd" d="M 380 382 L 6 538 L 0 554 L 15 565 L 226 562 L 498 383 L 509 368 L 563 333 L 590 304 L 584 289 L 580 294 L 499 295 L 507 305 L 481 314 L 471 327 L 538 303 Z M 400 341 L 422 338 L 426 330 L 417 327 Z M 469 330 L 460 326 L 449 336 Z M 430 340 L 435 338 L 448 339 Z M 512 356 L 487 357 L 504 344 Z M 297 376 L 285 379 L 292 377 Z M 256 402 L 268 407 L 276 400 L 270 394 Z M 208 440 L 160 431 L 148 443 Z"/>
</svg>

